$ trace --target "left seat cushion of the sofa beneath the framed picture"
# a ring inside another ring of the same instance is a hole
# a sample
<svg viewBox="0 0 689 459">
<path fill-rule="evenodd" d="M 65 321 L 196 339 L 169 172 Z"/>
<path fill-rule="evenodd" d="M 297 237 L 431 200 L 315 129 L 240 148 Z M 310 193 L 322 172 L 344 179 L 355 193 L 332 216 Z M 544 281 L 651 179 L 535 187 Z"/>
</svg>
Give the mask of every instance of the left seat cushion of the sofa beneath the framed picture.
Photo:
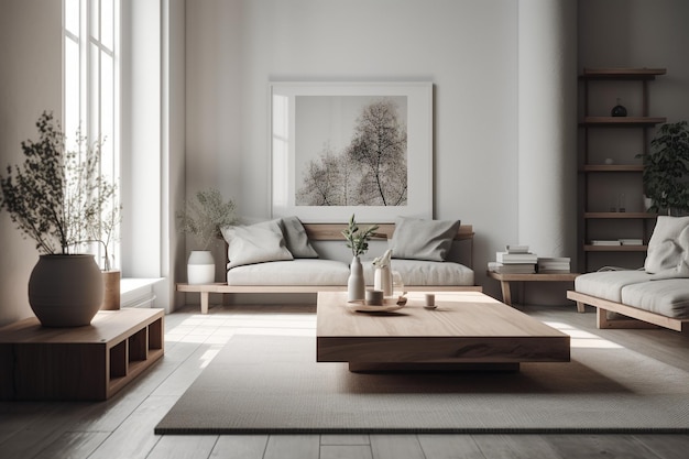
<svg viewBox="0 0 689 459">
<path fill-rule="evenodd" d="M 297 259 L 247 264 L 228 271 L 228 285 L 347 285 L 347 264 L 322 259 Z"/>
</svg>

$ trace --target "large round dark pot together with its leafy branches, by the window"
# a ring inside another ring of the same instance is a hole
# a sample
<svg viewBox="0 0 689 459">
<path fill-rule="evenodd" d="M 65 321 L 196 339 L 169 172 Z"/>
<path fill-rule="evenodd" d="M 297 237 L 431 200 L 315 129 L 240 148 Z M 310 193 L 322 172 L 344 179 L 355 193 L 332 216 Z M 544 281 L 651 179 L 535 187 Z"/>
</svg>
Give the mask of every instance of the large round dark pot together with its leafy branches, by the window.
<svg viewBox="0 0 689 459">
<path fill-rule="evenodd" d="M 68 151 L 48 112 L 36 127 L 39 140 L 21 144 L 24 163 L 0 177 L 0 208 L 41 254 L 29 280 L 29 303 L 41 324 L 88 325 L 101 306 L 103 280 L 92 254 L 75 252 L 100 228 L 114 186 L 99 174 L 99 142 L 77 133 L 76 151 Z"/>
</svg>

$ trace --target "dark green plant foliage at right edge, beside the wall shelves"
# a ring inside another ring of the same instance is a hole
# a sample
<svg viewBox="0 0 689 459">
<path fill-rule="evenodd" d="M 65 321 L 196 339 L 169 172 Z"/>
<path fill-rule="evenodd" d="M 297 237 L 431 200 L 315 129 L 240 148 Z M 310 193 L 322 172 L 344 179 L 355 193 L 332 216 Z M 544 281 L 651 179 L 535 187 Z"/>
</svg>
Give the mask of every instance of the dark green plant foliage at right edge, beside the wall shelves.
<svg viewBox="0 0 689 459">
<path fill-rule="evenodd" d="M 648 211 L 681 215 L 689 210 L 689 131 L 687 121 L 663 124 L 644 160 L 643 182 Z"/>
</svg>

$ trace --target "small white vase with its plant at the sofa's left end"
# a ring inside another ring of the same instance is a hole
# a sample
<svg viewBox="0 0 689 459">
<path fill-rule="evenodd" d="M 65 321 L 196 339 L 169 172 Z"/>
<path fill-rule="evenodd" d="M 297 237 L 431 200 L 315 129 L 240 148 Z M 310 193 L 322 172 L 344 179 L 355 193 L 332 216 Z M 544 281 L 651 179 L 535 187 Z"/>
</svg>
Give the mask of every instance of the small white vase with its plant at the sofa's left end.
<svg viewBox="0 0 689 459">
<path fill-rule="evenodd" d="M 186 201 L 185 208 L 177 212 L 179 231 L 189 234 L 199 250 L 193 250 L 187 262 L 187 282 L 189 284 L 211 284 L 216 277 L 216 263 L 210 253 L 210 244 L 222 239 L 221 229 L 236 225 L 236 205 L 230 199 L 223 200 L 215 188 L 197 192 L 196 199 Z"/>
</svg>

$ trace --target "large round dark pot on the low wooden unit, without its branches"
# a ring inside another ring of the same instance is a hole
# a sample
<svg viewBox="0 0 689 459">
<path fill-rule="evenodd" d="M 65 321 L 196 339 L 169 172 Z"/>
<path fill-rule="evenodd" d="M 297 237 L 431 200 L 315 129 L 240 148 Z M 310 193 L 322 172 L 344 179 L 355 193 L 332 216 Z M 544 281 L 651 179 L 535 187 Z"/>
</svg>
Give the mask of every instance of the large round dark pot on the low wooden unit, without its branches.
<svg viewBox="0 0 689 459">
<path fill-rule="evenodd" d="M 41 255 L 29 278 L 29 304 L 44 327 L 89 325 L 103 299 L 94 255 Z"/>
</svg>

